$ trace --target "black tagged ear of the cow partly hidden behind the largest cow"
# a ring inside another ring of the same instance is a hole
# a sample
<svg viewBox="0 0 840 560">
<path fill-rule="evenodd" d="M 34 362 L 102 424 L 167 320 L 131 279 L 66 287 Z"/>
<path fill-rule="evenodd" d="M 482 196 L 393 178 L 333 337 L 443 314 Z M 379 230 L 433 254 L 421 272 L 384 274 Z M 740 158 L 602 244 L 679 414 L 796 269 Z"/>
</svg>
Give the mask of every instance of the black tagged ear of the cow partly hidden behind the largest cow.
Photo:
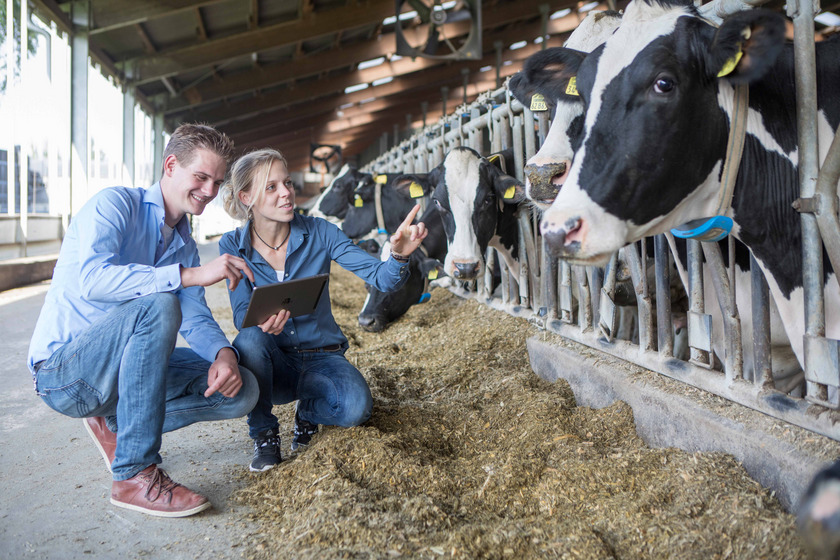
<svg viewBox="0 0 840 560">
<path fill-rule="evenodd" d="M 528 57 L 522 72 L 534 91 L 547 99 L 577 100 L 577 72 L 584 58 L 586 53 L 574 49 L 545 49 Z"/>
</svg>

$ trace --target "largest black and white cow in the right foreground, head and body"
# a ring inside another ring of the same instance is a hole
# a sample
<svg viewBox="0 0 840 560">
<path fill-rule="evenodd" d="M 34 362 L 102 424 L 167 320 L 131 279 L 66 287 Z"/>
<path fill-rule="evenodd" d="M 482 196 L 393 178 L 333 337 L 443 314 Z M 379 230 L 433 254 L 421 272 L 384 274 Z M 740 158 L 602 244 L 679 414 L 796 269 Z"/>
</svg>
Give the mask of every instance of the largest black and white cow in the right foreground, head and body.
<svg viewBox="0 0 840 560">
<path fill-rule="evenodd" d="M 762 267 L 803 363 L 793 52 L 784 30 L 782 16 L 764 10 L 715 28 L 691 2 L 634 1 L 602 47 L 588 56 L 566 49 L 549 71 L 558 83 L 576 76 L 584 133 L 541 231 L 557 256 L 600 264 L 631 241 L 713 215 L 733 85 L 748 83 L 744 156 L 727 214 Z M 816 49 L 824 157 L 840 124 L 840 39 Z M 731 73 L 718 77 L 739 52 Z M 833 277 L 826 261 L 827 317 L 838 316 Z M 840 336 L 840 321 L 829 321 L 827 336 Z"/>
</svg>

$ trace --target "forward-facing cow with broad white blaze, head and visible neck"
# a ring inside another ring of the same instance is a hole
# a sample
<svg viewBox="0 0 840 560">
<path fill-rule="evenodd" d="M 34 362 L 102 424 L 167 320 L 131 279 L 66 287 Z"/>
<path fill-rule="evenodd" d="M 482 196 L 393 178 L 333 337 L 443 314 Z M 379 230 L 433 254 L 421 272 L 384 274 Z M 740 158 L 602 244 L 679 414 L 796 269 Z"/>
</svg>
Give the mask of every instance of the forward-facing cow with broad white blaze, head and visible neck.
<svg viewBox="0 0 840 560">
<path fill-rule="evenodd" d="M 510 150 L 490 159 L 497 163 L 471 148 L 454 148 L 426 179 L 447 237 L 444 270 L 456 280 L 483 274 L 487 247 L 499 252 L 514 278 L 519 276 L 516 212 L 525 187 L 500 168 L 504 161 L 506 169 L 513 169 Z"/>
</svg>

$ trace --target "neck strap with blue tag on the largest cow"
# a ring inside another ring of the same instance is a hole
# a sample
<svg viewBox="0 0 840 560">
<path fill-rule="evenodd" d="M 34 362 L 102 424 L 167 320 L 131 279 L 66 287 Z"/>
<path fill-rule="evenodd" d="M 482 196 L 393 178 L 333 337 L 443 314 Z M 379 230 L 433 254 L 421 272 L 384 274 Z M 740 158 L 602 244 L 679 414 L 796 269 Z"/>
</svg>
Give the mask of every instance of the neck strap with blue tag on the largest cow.
<svg viewBox="0 0 840 560">
<path fill-rule="evenodd" d="M 683 239 L 699 241 L 720 241 L 732 231 L 732 218 L 726 215 L 732 207 L 738 169 L 744 154 L 744 140 L 747 134 L 747 115 L 749 114 L 749 85 L 734 86 L 732 117 L 729 123 L 729 139 L 726 142 L 726 156 L 723 161 L 718 205 L 711 218 L 700 218 L 671 229 L 671 233 Z"/>
</svg>

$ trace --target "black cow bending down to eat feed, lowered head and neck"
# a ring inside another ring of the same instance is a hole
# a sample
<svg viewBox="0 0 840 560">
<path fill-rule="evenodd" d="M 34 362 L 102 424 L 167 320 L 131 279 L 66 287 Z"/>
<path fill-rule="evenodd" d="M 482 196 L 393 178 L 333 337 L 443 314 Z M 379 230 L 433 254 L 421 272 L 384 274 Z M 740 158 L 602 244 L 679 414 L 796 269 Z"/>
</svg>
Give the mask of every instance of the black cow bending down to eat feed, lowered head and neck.
<svg viewBox="0 0 840 560">
<path fill-rule="evenodd" d="M 365 284 L 368 292 L 364 306 L 359 312 L 359 326 L 366 331 L 380 332 L 406 314 L 412 305 L 424 302 L 428 296 L 429 276 L 434 271 L 434 278 L 443 276 L 441 261 L 446 256 L 446 234 L 440 213 L 429 206 L 419 221 L 426 225 L 426 239 L 421 249 L 411 254 L 408 262 L 410 276 L 403 286 L 394 292 L 380 292 L 370 284 Z M 382 258 L 391 254 L 388 243 L 382 248 Z"/>
</svg>

